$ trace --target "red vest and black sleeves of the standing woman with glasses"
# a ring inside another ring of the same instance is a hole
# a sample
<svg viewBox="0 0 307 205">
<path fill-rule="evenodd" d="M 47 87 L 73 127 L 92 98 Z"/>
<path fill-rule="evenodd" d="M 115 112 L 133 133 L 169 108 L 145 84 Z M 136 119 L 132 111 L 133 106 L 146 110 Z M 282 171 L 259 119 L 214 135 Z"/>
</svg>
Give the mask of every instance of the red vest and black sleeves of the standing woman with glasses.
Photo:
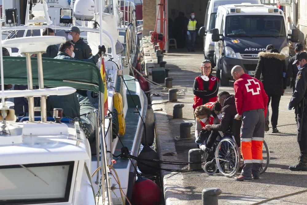
<svg viewBox="0 0 307 205">
<path fill-rule="evenodd" d="M 204 85 L 208 84 L 208 81 L 204 81 L 200 76 L 197 76 L 194 81 L 193 93 L 194 93 L 194 104 L 193 108 L 203 105 L 207 102 L 215 102 L 217 100 L 217 93 L 219 92 L 219 80 L 212 76 L 209 77 L 209 86 L 206 90 Z"/>
</svg>

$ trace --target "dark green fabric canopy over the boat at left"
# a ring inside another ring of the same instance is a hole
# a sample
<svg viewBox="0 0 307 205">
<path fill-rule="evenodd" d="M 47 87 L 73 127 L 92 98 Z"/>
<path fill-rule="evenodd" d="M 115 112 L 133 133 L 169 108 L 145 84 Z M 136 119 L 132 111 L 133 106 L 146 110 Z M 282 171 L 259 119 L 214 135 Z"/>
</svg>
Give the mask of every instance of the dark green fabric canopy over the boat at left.
<svg viewBox="0 0 307 205">
<path fill-rule="evenodd" d="M 104 86 L 96 65 L 83 61 L 42 58 L 44 86 L 68 86 L 103 92 Z M 38 85 L 37 58 L 31 57 L 33 85 Z M 3 56 L 4 83 L 28 85 L 25 57 Z"/>
</svg>

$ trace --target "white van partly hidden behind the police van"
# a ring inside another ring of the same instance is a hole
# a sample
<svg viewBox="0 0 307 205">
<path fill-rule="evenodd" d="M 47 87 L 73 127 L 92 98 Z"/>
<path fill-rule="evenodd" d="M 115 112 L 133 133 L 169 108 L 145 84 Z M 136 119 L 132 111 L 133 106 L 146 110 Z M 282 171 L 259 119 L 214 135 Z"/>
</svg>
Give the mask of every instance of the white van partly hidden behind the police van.
<svg viewBox="0 0 307 205">
<path fill-rule="evenodd" d="M 212 66 L 215 66 L 214 62 L 214 42 L 211 41 L 211 30 L 215 28 L 216 12 L 217 8 L 225 4 L 240 4 L 251 3 L 260 4 L 260 0 L 210 0 L 208 1 L 204 26 L 200 28 L 199 35 L 204 37 L 204 55 L 205 59 L 209 59 Z"/>
</svg>

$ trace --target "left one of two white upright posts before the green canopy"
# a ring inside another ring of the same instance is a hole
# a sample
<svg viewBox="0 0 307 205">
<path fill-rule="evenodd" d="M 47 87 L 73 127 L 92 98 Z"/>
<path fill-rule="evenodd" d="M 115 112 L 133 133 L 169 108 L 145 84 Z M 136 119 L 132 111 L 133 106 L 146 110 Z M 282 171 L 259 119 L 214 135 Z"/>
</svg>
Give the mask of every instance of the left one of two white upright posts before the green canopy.
<svg viewBox="0 0 307 205">
<path fill-rule="evenodd" d="M 30 53 L 25 53 L 25 59 L 27 63 L 28 89 L 33 90 Z M 34 122 L 34 97 L 28 97 L 28 104 L 29 104 L 29 122 Z"/>
</svg>

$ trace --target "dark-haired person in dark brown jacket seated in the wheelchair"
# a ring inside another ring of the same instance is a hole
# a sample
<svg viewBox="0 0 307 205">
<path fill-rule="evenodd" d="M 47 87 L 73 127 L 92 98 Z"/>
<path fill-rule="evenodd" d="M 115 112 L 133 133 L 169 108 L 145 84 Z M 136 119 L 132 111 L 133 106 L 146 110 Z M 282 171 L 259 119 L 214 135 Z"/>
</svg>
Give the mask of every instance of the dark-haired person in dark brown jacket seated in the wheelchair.
<svg viewBox="0 0 307 205">
<path fill-rule="evenodd" d="M 240 146 L 240 128 L 242 121 L 234 120 L 235 115 L 237 114 L 237 110 L 235 107 L 235 96 L 230 95 L 228 92 L 223 91 L 219 94 L 218 100 L 223 106 L 222 108 L 222 117 L 219 124 L 207 124 L 201 132 L 208 135 L 209 131 L 210 136 L 205 145 L 205 149 L 203 151 L 208 153 L 215 142 L 217 136 L 219 136 L 219 131 L 223 132 L 225 135 L 231 134 L 235 138 L 235 142 L 238 146 Z M 211 132 L 210 132 L 211 131 Z M 206 154 L 204 154 L 206 156 Z M 208 156 L 208 155 L 207 155 Z"/>
</svg>

